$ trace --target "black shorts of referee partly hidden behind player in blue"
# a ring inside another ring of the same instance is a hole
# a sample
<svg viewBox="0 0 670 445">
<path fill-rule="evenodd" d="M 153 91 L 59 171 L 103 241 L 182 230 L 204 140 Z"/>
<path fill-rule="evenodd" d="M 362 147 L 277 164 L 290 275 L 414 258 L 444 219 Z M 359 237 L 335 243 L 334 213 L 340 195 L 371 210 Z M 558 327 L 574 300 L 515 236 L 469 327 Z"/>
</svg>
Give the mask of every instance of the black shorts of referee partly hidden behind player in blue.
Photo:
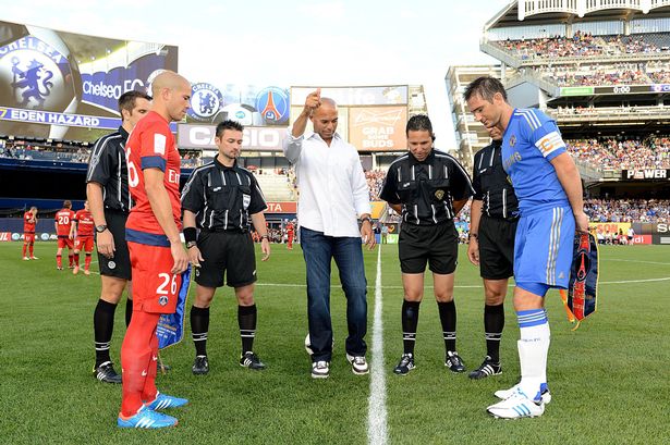
<svg viewBox="0 0 670 445">
<path fill-rule="evenodd" d="M 514 236 L 519 220 L 489 218 L 479 220 L 479 275 L 504 280 L 514 275 Z"/>
</svg>

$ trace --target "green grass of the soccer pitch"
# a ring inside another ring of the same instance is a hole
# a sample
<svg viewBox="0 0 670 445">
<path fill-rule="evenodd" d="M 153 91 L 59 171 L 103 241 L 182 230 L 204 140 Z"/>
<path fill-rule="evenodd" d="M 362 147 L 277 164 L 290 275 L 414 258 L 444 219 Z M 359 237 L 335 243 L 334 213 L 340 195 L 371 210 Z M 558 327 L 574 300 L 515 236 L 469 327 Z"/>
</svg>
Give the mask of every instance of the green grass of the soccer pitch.
<svg viewBox="0 0 670 445">
<path fill-rule="evenodd" d="M 283 245 L 272 245 L 270 260 L 258 262 L 256 288 L 255 349 L 267 370 L 254 372 L 237 364 L 236 302 L 230 288 L 219 289 L 211 307 L 209 374 L 191 373 L 194 348 L 188 326 L 181 344 L 161 353 L 172 371 L 158 376 L 158 387 L 191 400 L 187 407 L 170 412 L 180 424 L 162 431 L 129 431 L 115 427 L 121 386 L 102 384 L 92 375 L 93 310 L 99 297 L 99 276 L 57 271 L 54 251 L 53 243 L 38 243 L 35 255 L 40 259 L 22 261 L 21 244 L 0 245 L 0 443 L 367 442 L 370 376 L 354 375 L 344 358 L 345 300 L 334 267 L 336 351 L 330 379 L 309 376 L 303 348 L 307 320 L 300 246 L 288 251 Z M 519 329 L 511 301 L 505 305 L 502 375 L 470 381 L 466 373 L 453 374 L 444 368 L 437 307 L 428 288 L 419 317 L 417 368 L 407 376 L 397 376 L 392 368 L 402 353 L 402 287 L 397 248 L 382 246 L 389 443 L 670 443 L 669 254 L 663 246 L 601 248 L 599 309 L 576 332 L 571 331 L 558 293 L 547 296 L 552 334 L 548 379 L 553 400 L 541 418 L 505 421 L 490 418 L 485 408 L 496 401 L 496 390 L 517 382 Z M 365 261 L 371 349 L 377 251 L 366 250 Z M 97 271 L 97 263 L 93 270 Z M 454 295 L 458 349 L 470 371 L 485 355 L 483 289 L 464 248 Z M 118 371 L 123 313 L 122 304 L 112 341 Z"/>
</svg>

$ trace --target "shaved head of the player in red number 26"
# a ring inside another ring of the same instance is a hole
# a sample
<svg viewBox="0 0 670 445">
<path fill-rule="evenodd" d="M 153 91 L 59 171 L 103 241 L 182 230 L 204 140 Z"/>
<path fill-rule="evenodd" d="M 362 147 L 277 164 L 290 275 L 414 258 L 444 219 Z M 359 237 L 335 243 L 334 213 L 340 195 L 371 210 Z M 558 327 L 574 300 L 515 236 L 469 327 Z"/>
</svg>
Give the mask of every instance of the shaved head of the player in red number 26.
<svg viewBox="0 0 670 445">
<path fill-rule="evenodd" d="M 168 122 L 181 121 L 191 106 L 191 84 L 173 71 L 165 71 L 151 84 L 154 111 Z"/>
</svg>

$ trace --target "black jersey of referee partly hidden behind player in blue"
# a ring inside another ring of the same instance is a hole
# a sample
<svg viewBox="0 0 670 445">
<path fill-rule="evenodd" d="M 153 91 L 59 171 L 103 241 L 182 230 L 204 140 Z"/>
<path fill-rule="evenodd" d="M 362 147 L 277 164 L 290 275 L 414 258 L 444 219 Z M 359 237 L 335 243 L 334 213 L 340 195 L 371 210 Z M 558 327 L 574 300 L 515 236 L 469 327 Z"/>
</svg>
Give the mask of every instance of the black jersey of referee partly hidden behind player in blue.
<svg viewBox="0 0 670 445">
<path fill-rule="evenodd" d="M 475 153 L 473 166 L 474 199 L 480 200 L 487 217 L 515 220 L 519 200 L 502 168 L 502 144 L 494 141 Z"/>
</svg>

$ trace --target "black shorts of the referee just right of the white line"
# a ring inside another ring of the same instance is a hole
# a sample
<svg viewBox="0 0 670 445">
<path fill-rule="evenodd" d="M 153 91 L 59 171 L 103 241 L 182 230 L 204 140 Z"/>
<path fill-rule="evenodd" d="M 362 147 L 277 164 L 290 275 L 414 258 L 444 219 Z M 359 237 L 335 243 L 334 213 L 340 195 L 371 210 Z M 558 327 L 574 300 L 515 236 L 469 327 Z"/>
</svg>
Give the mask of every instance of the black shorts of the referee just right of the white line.
<svg viewBox="0 0 670 445">
<path fill-rule="evenodd" d="M 453 222 L 437 225 L 403 223 L 398 256 L 403 273 L 424 273 L 426 262 L 434 273 L 453 273 L 459 257 L 459 235 Z"/>
</svg>

